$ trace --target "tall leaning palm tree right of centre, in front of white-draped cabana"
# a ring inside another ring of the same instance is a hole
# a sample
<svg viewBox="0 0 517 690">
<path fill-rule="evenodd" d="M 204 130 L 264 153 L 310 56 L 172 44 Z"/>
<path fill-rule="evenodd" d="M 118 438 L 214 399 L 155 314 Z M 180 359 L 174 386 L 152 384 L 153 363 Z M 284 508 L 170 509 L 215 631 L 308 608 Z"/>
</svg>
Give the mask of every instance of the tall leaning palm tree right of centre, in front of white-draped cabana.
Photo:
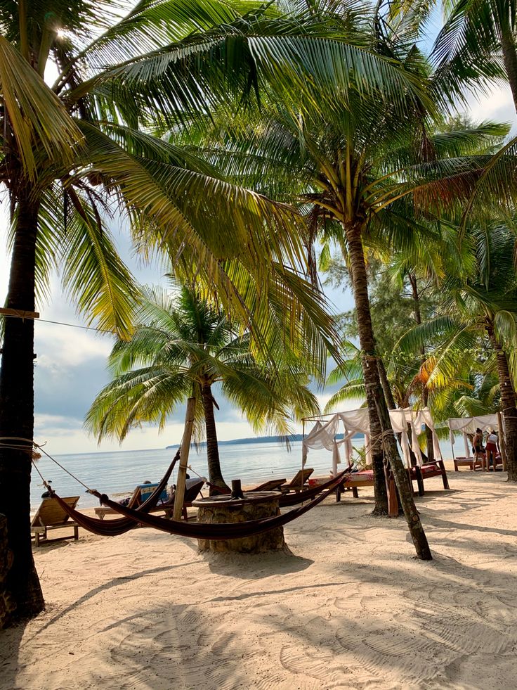
<svg viewBox="0 0 517 690">
<path fill-rule="evenodd" d="M 403 61 L 408 75 L 416 78 L 426 72 L 425 60 L 414 46 L 407 51 L 405 46 L 385 48 L 391 57 Z M 435 88 L 431 80 L 430 89 Z M 436 122 L 426 115 L 422 103 L 410 98 L 401 108 L 399 103 L 369 98 L 359 88 L 341 101 L 336 94 L 325 120 L 318 109 L 310 112 L 301 99 L 294 117 L 294 101 L 293 95 L 282 101 L 272 98 L 259 124 L 220 123 L 205 155 L 249 186 L 277 198 L 301 201 L 313 237 L 324 226 L 342 248 L 351 272 L 370 428 L 378 440 L 384 438 L 384 451 L 398 476 L 417 543 L 421 525 L 389 433 L 388 407 L 382 395 L 365 244 L 372 236 L 384 235 L 384 246 L 396 248 L 419 230 L 414 222 L 417 212 L 436 220 L 443 207 L 468 199 L 490 158 L 488 153 L 471 154 L 480 151 L 481 142 L 489 151 L 507 130 L 486 123 L 471 130 L 428 134 L 436 130 Z M 385 511 L 380 445 L 374 452 L 374 468 L 377 508 Z M 423 544 L 422 539 L 417 550 L 427 554 Z"/>
</svg>

